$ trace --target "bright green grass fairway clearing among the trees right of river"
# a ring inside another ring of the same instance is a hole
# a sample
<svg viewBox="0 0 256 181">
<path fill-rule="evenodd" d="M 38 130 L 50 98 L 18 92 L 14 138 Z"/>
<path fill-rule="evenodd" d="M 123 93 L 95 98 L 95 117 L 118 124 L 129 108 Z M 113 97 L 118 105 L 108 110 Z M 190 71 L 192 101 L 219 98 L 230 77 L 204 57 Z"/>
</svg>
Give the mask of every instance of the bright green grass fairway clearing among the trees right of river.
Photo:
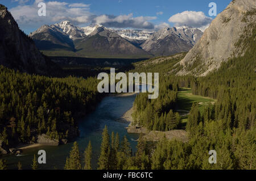
<svg viewBox="0 0 256 181">
<path fill-rule="evenodd" d="M 187 122 L 188 113 L 191 110 L 193 103 L 199 104 L 199 110 L 201 113 L 204 112 L 204 108 L 213 105 L 216 102 L 215 99 L 193 95 L 191 89 L 182 88 L 177 94 L 177 106 L 176 111 L 180 113 L 182 122 Z"/>
</svg>

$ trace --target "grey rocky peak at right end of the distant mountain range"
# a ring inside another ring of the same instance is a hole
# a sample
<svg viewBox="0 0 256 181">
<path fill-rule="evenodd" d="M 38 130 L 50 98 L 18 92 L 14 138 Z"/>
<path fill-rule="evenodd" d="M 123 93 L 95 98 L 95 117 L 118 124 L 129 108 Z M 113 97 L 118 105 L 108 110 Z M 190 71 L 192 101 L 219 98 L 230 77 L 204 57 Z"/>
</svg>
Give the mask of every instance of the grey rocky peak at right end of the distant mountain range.
<svg viewBox="0 0 256 181">
<path fill-rule="evenodd" d="M 188 52 L 203 32 L 191 27 L 164 28 L 152 34 L 141 47 L 156 56 Z"/>
</svg>

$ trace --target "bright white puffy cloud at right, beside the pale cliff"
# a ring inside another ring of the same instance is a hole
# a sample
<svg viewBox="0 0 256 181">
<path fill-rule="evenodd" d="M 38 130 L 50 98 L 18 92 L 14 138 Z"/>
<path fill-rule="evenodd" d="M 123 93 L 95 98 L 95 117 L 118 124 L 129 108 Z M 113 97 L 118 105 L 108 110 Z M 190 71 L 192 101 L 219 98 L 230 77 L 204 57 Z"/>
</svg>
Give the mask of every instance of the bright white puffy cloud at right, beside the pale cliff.
<svg viewBox="0 0 256 181">
<path fill-rule="evenodd" d="M 190 26 L 205 30 L 212 18 L 209 18 L 202 11 L 183 11 L 170 17 L 169 22 L 175 23 L 175 26 Z"/>
</svg>

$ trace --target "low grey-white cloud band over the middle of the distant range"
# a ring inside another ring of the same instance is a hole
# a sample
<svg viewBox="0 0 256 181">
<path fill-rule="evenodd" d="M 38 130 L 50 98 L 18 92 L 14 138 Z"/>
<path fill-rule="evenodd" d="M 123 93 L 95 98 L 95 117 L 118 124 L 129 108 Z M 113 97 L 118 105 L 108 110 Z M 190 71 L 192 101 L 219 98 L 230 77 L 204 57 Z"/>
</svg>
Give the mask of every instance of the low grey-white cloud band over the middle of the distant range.
<svg viewBox="0 0 256 181">
<path fill-rule="evenodd" d="M 148 21 L 154 19 L 156 19 L 155 16 L 133 17 L 133 14 L 119 16 L 100 15 L 93 19 L 93 23 L 113 28 L 141 28 L 152 30 L 154 29 L 154 24 Z"/>
</svg>

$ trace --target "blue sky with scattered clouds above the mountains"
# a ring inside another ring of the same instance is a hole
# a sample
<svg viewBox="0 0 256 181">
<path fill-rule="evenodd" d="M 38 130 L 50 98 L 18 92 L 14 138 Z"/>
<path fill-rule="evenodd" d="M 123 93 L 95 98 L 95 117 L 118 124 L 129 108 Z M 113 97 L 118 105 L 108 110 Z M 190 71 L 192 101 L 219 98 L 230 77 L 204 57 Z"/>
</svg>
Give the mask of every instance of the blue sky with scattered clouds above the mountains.
<svg viewBox="0 0 256 181">
<path fill-rule="evenodd" d="M 38 16 L 39 2 L 46 3 L 46 16 Z M 0 0 L 26 33 L 61 20 L 80 27 L 99 23 L 113 28 L 156 31 L 187 24 L 204 30 L 215 18 L 208 14 L 210 2 L 216 3 L 218 14 L 231 0 Z"/>
</svg>

